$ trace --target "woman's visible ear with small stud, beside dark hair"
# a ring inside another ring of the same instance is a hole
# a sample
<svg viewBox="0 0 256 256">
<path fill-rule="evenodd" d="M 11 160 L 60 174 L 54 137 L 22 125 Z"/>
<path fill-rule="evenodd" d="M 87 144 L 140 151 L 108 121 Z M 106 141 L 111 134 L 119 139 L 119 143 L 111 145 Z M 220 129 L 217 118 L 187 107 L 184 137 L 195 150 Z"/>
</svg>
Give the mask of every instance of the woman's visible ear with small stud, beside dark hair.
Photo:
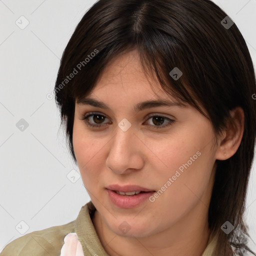
<svg viewBox="0 0 256 256">
<path fill-rule="evenodd" d="M 231 157 L 241 143 L 244 130 L 244 112 L 241 107 L 236 107 L 230 111 L 230 115 L 232 121 L 228 122 L 226 129 L 218 138 L 215 154 L 218 160 L 226 160 Z"/>
</svg>

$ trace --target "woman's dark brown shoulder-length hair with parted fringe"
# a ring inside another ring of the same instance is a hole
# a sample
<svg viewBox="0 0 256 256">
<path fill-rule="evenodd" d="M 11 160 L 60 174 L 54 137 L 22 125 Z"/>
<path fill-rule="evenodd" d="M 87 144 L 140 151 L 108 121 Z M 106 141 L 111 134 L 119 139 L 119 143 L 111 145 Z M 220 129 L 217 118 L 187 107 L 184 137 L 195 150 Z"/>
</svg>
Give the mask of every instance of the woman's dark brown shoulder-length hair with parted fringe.
<svg viewBox="0 0 256 256">
<path fill-rule="evenodd" d="M 225 127 L 231 109 L 244 110 L 237 151 L 216 160 L 208 223 L 211 235 L 217 236 L 217 256 L 234 255 L 231 246 L 239 255 L 245 249 L 252 252 L 246 245 L 243 213 L 255 145 L 255 73 L 237 26 L 227 28 L 221 22 L 226 16 L 210 0 L 99 0 L 76 26 L 55 83 L 55 100 L 75 162 L 75 100 L 88 95 L 107 63 L 124 51 L 137 49 L 145 73 L 154 74 L 166 93 L 201 113 L 200 106 L 206 109 L 215 134 Z M 174 67 L 183 73 L 177 80 L 169 75 Z M 75 75 L 65 80 L 70 73 Z M 229 234 L 220 229 L 227 220 L 234 226 Z"/>
</svg>

